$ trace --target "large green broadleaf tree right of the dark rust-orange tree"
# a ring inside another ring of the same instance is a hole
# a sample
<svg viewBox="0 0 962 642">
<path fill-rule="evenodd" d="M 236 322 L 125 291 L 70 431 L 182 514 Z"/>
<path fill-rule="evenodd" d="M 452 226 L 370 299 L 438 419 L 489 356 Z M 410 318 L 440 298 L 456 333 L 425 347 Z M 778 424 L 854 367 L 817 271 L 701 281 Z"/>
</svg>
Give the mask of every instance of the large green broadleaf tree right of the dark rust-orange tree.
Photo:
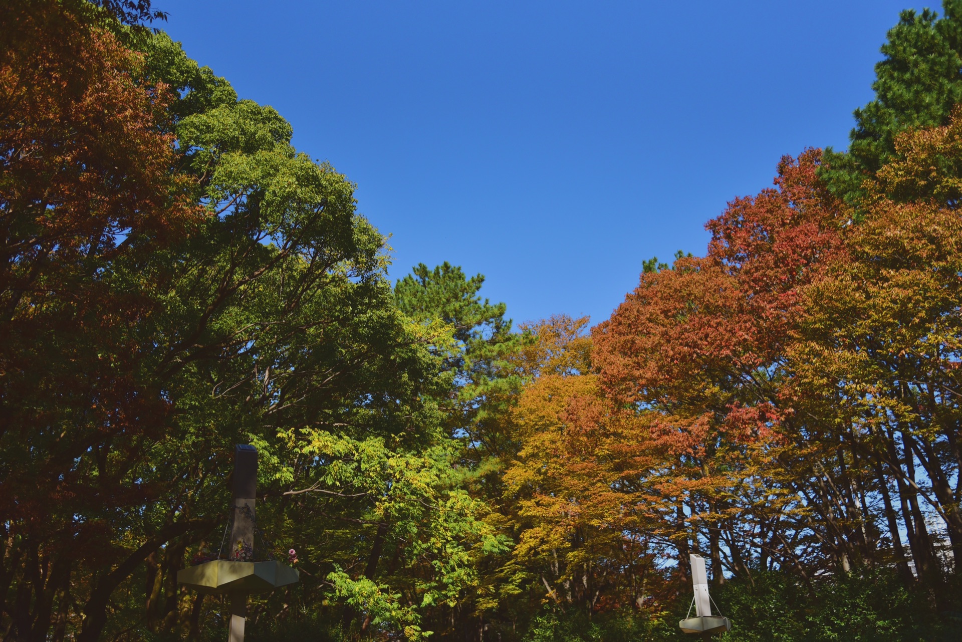
<svg viewBox="0 0 962 642">
<path fill-rule="evenodd" d="M 355 213 L 353 185 L 296 153 L 281 116 L 238 101 L 164 35 L 143 48 L 181 95 L 181 167 L 211 213 L 173 261 L 165 306 L 160 366 L 175 372 L 167 390 L 182 413 L 166 448 L 181 453 L 179 476 L 210 461 L 212 442 L 256 444 L 260 523 L 296 544 L 305 570 L 293 602 L 336 604 L 345 629 L 417 637 L 425 611 L 471 584 L 471 556 L 504 546 L 451 465 L 460 442 L 438 399 L 451 385 L 452 328 L 398 308 L 384 237 Z M 178 499 L 225 505 L 227 463 Z M 207 535 L 190 534 L 191 550 Z M 168 585 L 184 559 L 173 551 Z M 281 599 L 255 612 L 276 613 Z M 171 629 L 170 614 L 187 611 L 162 602 L 155 621 Z"/>
</svg>

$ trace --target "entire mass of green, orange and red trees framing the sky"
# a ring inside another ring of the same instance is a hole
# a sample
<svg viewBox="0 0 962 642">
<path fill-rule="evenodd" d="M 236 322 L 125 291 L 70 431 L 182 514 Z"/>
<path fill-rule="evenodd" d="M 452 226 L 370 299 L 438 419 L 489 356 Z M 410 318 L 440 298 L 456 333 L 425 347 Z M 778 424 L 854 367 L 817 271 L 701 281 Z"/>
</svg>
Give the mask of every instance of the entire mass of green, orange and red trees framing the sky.
<svg viewBox="0 0 962 642">
<path fill-rule="evenodd" d="M 785 157 L 610 319 L 396 283 L 354 186 L 146 0 L 0 6 L 0 631 L 218 639 L 235 444 L 300 582 L 253 640 L 962 624 L 962 5 L 902 13 L 848 152 Z M 295 553 L 288 553 L 294 549 Z"/>
</svg>

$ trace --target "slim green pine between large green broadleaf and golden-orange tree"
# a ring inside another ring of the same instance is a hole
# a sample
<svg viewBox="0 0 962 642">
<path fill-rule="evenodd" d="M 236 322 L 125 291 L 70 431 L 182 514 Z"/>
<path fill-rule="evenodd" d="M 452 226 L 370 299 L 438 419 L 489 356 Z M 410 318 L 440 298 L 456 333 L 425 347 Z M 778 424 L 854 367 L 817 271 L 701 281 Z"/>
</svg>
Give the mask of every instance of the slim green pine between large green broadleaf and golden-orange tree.
<svg viewBox="0 0 962 642">
<path fill-rule="evenodd" d="M 449 387 L 438 398 L 448 434 L 461 448 L 452 462 L 464 472 L 461 484 L 477 501 L 494 504 L 501 494 L 503 466 L 517 448 L 507 417 L 521 383 L 529 377 L 518 367 L 519 351 L 533 346 L 530 332 L 511 331 L 504 303 L 492 304 L 479 295 L 484 276 L 467 277 L 460 267 L 444 262 L 434 270 L 419 264 L 394 286 L 398 307 L 422 325 L 443 323 L 451 332 L 447 346 L 432 346 L 443 359 Z M 489 513 L 486 523 L 503 537 L 503 518 Z M 508 540 L 503 540 L 505 543 Z M 499 550 L 508 552 L 506 547 Z M 436 611 L 443 637 L 483 628 L 485 609 L 496 603 L 492 556 L 475 559 L 478 585 L 463 596 L 456 609 Z"/>
</svg>

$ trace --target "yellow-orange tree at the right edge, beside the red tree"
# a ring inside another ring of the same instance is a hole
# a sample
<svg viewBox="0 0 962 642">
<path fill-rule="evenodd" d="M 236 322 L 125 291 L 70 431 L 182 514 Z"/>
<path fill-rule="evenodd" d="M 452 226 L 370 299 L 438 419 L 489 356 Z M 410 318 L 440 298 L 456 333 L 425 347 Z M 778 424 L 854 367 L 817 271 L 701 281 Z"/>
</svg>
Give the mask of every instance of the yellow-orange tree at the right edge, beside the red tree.
<svg viewBox="0 0 962 642">
<path fill-rule="evenodd" d="M 909 554 L 919 578 L 938 582 L 962 551 L 960 141 L 958 110 L 944 127 L 899 136 L 896 157 L 865 184 L 866 216 L 842 237 L 845 260 L 804 289 L 789 350 L 787 394 L 817 418 L 811 437 L 851 462 L 829 480 L 849 510 L 869 491 L 881 499 L 879 523 L 908 580 Z M 863 522 L 853 539 L 877 537 Z"/>
</svg>

